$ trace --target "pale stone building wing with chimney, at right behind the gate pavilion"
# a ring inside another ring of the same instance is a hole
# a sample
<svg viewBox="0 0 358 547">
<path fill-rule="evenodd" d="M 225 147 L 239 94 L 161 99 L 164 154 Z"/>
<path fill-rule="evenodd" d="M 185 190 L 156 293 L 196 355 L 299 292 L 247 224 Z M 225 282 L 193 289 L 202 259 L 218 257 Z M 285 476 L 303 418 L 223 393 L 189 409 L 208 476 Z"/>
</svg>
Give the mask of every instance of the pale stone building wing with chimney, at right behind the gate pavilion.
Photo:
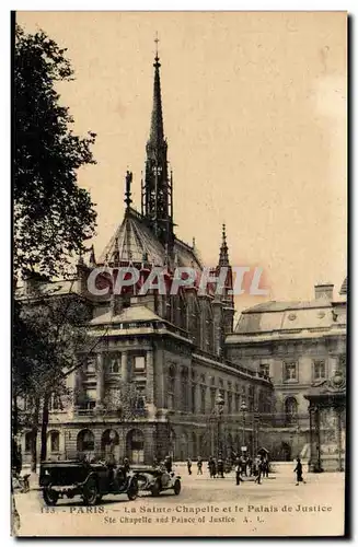
<svg viewBox="0 0 358 547">
<path fill-rule="evenodd" d="M 310 302 L 268 302 L 246 310 L 227 337 L 233 362 L 267 373 L 273 416 L 261 416 L 261 443 L 275 458 L 309 457 L 311 386 L 346 369 L 346 294 L 316 286 Z"/>
</svg>

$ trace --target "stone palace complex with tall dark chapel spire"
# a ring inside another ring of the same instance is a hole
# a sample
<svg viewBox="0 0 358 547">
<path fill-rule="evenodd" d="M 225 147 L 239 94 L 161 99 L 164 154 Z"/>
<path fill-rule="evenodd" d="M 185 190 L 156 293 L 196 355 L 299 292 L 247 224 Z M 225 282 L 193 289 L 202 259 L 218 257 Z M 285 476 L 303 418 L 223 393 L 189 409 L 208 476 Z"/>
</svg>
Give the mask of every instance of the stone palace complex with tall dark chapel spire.
<svg viewBox="0 0 358 547">
<path fill-rule="evenodd" d="M 345 354 L 345 305 L 332 302 L 330 290 L 309 303 L 255 306 L 234 329 L 224 226 L 217 265 L 228 268 L 221 296 L 200 295 L 195 286 L 175 295 L 138 295 L 132 288 L 99 296 L 88 289 L 89 275 L 103 266 L 134 266 L 140 282 L 153 267 L 165 268 L 169 282 L 177 266 L 203 269 L 195 244 L 174 232 L 158 56 L 140 211 L 131 207 L 131 178 L 127 173 L 124 219 L 102 256 L 92 247 L 76 279 L 57 283 L 57 295 L 74 293 L 89 306 L 97 344 L 69 377 L 72 404 L 61 410 L 53 405 L 48 457 L 111 450 L 117 458 L 150 463 L 168 453 L 184 459 L 242 446 L 254 453 L 261 445 L 277 457 L 296 455 L 309 443 L 303 395 Z M 25 461 L 30 450 L 25 432 Z"/>
</svg>

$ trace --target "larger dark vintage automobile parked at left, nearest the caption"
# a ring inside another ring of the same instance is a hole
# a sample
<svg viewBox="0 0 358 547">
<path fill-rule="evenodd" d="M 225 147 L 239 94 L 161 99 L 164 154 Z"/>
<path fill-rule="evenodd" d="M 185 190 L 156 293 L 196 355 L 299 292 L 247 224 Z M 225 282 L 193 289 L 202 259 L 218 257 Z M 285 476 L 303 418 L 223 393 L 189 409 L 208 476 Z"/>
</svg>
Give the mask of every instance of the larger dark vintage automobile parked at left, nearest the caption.
<svg viewBox="0 0 358 547">
<path fill-rule="evenodd" d="M 109 467 L 105 463 L 79 461 L 44 462 L 39 486 L 47 505 L 56 505 L 65 496 L 81 496 L 86 505 L 95 505 L 108 493 L 126 493 L 129 500 L 138 496 L 138 479 L 123 466 Z"/>
</svg>

